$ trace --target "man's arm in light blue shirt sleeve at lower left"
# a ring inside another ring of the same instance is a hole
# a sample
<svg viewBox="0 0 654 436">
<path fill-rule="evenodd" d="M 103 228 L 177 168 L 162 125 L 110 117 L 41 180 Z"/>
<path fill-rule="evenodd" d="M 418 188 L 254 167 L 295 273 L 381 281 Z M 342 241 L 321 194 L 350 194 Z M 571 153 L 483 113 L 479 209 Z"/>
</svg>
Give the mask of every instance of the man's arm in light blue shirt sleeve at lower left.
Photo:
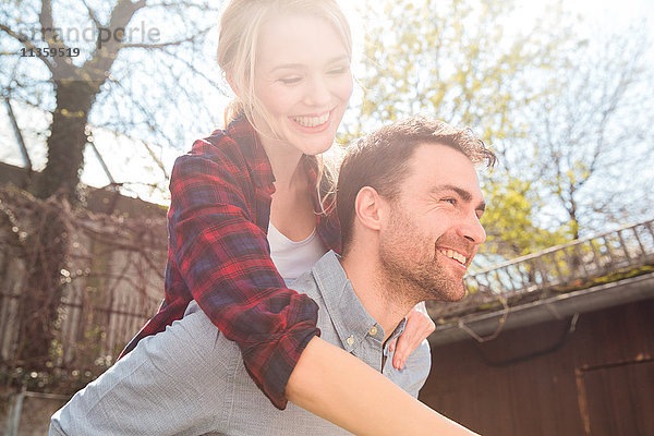
<svg viewBox="0 0 654 436">
<path fill-rule="evenodd" d="M 192 303 L 194 304 L 194 303 Z M 50 421 L 50 435 L 178 435 L 222 431 L 228 367 L 241 361 L 198 310 L 143 339 Z M 214 398 L 215 401 L 207 401 Z"/>
</svg>

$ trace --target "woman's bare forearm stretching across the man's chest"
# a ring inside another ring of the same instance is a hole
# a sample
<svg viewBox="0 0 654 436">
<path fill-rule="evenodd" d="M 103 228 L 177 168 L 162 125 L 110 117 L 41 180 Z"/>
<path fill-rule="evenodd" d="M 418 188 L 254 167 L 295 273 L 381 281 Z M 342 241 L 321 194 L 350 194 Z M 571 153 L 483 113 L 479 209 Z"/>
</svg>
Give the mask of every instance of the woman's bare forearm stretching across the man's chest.
<svg viewBox="0 0 654 436">
<path fill-rule="evenodd" d="M 475 435 L 319 338 L 304 349 L 289 378 L 287 397 L 356 435 Z"/>
</svg>

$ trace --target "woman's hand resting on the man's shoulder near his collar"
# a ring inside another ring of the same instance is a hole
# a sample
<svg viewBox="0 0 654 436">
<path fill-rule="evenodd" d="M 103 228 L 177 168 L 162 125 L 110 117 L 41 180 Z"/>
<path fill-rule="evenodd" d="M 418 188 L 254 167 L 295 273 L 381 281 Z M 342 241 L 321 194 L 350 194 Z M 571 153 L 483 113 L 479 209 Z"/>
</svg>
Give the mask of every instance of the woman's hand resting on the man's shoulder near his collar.
<svg viewBox="0 0 654 436">
<path fill-rule="evenodd" d="M 421 344 L 421 342 L 432 335 L 436 325 L 427 315 L 425 303 L 417 303 L 415 307 L 407 315 L 407 326 L 398 339 L 393 339 L 389 344 L 390 351 L 395 350 L 392 356 L 392 366 L 396 370 L 404 367 L 409 355 Z M 396 343 L 397 342 L 397 343 Z"/>
</svg>

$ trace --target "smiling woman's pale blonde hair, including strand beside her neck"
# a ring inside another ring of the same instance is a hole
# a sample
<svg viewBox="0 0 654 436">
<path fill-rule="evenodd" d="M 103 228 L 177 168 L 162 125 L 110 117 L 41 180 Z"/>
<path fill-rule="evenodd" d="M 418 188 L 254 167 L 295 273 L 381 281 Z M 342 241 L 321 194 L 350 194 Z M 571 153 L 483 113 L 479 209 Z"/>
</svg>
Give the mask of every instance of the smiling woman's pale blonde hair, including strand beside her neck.
<svg viewBox="0 0 654 436">
<path fill-rule="evenodd" d="M 350 24 L 336 0 L 231 0 L 220 19 L 218 39 L 218 64 L 229 81 L 238 89 L 225 113 L 226 124 L 243 113 L 259 133 L 267 131 L 277 135 L 268 121 L 269 116 L 254 93 L 254 72 L 261 29 L 275 16 L 300 14 L 326 20 L 342 38 L 350 59 L 352 58 L 352 35 Z M 254 119 L 257 113 L 268 129 L 262 129 Z M 316 189 L 320 201 L 320 213 L 327 214 L 335 206 L 336 177 L 322 156 L 303 156 L 305 165 L 314 167 L 318 175 Z"/>
</svg>

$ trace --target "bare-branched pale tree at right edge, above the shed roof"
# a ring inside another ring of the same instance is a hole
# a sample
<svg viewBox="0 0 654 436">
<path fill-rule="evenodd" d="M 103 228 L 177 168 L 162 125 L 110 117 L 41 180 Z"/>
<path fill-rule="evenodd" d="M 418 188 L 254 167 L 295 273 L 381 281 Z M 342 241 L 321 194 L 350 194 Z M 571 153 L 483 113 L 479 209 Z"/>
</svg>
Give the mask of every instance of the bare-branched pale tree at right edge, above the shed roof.
<svg viewBox="0 0 654 436">
<path fill-rule="evenodd" d="M 530 131 L 517 142 L 522 170 L 548 203 L 553 226 L 573 238 L 652 218 L 643 199 L 654 189 L 654 70 L 646 23 L 621 33 L 605 26 L 559 53 L 540 77 L 543 97 L 525 107 Z"/>
</svg>

